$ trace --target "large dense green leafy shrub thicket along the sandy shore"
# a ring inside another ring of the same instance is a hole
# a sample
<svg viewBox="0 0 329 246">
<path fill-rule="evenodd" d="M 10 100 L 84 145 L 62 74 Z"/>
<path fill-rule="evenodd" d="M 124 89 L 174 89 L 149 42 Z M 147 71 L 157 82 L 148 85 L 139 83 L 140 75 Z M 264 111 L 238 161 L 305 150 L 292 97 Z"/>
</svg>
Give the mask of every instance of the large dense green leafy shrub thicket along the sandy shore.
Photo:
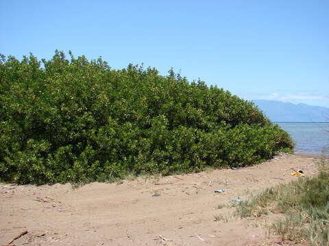
<svg viewBox="0 0 329 246">
<path fill-rule="evenodd" d="M 71 53 L 70 53 L 71 55 Z M 0 179 L 108 180 L 245 166 L 293 147 L 252 102 L 100 58 L 0 61 Z"/>
</svg>

